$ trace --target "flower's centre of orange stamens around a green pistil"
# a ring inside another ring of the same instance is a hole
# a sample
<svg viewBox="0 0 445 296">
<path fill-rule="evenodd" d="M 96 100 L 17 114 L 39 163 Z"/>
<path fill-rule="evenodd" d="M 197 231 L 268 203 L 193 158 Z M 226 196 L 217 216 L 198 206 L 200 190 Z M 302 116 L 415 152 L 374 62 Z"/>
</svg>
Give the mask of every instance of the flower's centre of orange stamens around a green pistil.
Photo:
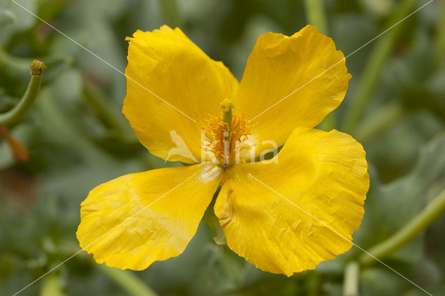
<svg viewBox="0 0 445 296">
<path fill-rule="evenodd" d="M 242 114 L 232 116 L 233 107 L 232 100 L 224 99 L 220 103 L 221 115 L 210 115 L 206 120 L 207 126 L 202 128 L 205 133 L 204 151 L 211 161 L 223 167 L 239 162 L 240 151 L 250 149 L 249 145 L 243 145 L 248 140 L 248 121 Z"/>
</svg>

